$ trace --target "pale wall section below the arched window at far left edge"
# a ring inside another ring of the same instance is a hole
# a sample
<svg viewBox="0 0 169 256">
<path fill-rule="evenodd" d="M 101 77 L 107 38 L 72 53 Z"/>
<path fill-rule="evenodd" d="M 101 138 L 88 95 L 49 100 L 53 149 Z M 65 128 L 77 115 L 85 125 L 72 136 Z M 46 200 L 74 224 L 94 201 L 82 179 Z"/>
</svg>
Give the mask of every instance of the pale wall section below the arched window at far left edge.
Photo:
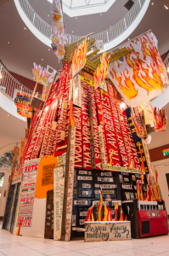
<svg viewBox="0 0 169 256">
<path fill-rule="evenodd" d="M 4 172 L 3 188 L 2 188 L 1 197 L 0 197 L 0 217 L 3 217 L 4 211 L 5 211 L 5 206 L 6 206 L 6 201 L 7 201 L 7 197 L 8 197 L 8 180 L 9 180 L 11 171 L 0 169 L 0 172 Z M 5 192 L 5 190 L 6 190 L 6 192 Z"/>
</svg>

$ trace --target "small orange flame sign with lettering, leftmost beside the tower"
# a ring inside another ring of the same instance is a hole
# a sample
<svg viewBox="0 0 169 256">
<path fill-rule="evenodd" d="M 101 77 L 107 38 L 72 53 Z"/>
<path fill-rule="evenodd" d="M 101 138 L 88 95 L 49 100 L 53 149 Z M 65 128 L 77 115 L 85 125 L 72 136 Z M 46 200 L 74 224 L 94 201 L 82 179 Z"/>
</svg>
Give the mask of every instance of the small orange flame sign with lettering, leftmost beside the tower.
<svg viewBox="0 0 169 256">
<path fill-rule="evenodd" d="M 16 98 L 14 99 L 14 104 L 17 107 L 17 113 L 22 117 L 32 119 L 33 117 L 33 108 L 30 107 L 31 97 L 26 96 L 23 93 L 18 92 Z"/>
</svg>

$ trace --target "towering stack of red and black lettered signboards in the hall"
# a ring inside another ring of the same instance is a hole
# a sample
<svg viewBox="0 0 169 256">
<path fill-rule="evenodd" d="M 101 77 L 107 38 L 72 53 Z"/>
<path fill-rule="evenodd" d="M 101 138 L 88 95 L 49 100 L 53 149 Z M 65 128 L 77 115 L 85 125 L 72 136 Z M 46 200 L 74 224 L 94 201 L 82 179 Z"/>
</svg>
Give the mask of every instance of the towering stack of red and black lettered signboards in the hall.
<svg viewBox="0 0 169 256">
<path fill-rule="evenodd" d="M 92 49 L 94 39 L 87 44 L 88 50 Z M 85 66 L 73 78 L 70 55 L 75 49 L 76 44 L 67 46 L 59 80 L 50 85 L 42 111 L 41 106 L 37 108 L 31 121 L 18 170 L 23 173 L 20 193 L 19 188 L 11 190 L 19 198 L 14 212 L 14 234 L 20 225 L 23 236 L 65 241 L 84 237 L 89 207 L 95 206 L 97 220 L 100 189 L 112 218 L 118 201 L 120 218 L 121 201 L 137 198 L 136 182 L 141 180 L 142 161 L 144 174 L 150 172 L 144 136 L 138 136 L 132 127 L 130 108 L 126 112 L 121 110 L 120 96 L 109 79 L 94 88 L 93 71 L 100 65 L 98 50 L 87 55 Z M 127 54 L 127 49 L 110 52 L 110 62 Z M 138 109 L 132 112 L 143 135 Z M 144 176 L 145 193 L 146 188 Z M 96 224 L 86 225 L 87 228 Z M 111 240 L 114 226 L 100 225 L 106 226 Z M 118 235 L 120 239 L 131 237 L 129 226 L 125 222 L 126 233 Z M 92 237 L 90 234 L 86 233 L 85 240 Z"/>
</svg>

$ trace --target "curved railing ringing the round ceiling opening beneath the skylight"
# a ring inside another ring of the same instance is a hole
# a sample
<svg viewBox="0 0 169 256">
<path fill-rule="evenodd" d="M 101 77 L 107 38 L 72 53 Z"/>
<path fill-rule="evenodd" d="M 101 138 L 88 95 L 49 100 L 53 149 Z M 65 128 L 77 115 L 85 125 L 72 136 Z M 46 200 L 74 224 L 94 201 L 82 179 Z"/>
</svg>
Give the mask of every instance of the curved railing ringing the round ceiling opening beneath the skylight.
<svg viewBox="0 0 169 256">
<path fill-rule="evenodd" d="M 37 30 L 42 33 L 42 35 L 50 39 L 52 27 L 49 26 L 47 22 L 42 20 L 39 15 L 37 15 L 28 0 L 17 1 L 20 3 L 20 7 L 24 11 L 26 17 L 31 21 L 31 24 L 35 26 Z M 131 26 L 133 21 L 138 17 L 138 14 L 143 9 L 146 1 L 148 0 L 136 0 L 132 5 L 132 8 L 127 12 L 127 15 L 116 23 L 115 26 L 112 26 L 104 32 L 94 34 L 92 38 L 95 38 L 96 40 L 103 40 L 104 44 L 108 44 L 110 41 L 121 36 L 121 34 L 127 31 L 127 28 Z M 74 43 L 80 38 L 82 38 L 82 36 L 67 34 L 68 44 Z"/>
</svg>

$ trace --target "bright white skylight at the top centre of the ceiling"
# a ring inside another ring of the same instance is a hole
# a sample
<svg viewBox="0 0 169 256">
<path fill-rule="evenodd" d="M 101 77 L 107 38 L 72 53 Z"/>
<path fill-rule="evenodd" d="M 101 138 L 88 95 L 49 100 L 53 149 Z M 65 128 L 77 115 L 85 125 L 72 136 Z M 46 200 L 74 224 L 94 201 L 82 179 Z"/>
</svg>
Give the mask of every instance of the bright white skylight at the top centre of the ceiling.
<svg viewBox="0 0 169 256">
<path fill-rule="evenodd" d="M 66 15 L 78 17 L 107 12 L 115 1 L 116 0 L 62 0 L 62 5 Z M 53 0 L 48 0 L 48 2 L 53 3 Z M 78 2 L 79 5 L 77 4 Z"/>
</svg>

